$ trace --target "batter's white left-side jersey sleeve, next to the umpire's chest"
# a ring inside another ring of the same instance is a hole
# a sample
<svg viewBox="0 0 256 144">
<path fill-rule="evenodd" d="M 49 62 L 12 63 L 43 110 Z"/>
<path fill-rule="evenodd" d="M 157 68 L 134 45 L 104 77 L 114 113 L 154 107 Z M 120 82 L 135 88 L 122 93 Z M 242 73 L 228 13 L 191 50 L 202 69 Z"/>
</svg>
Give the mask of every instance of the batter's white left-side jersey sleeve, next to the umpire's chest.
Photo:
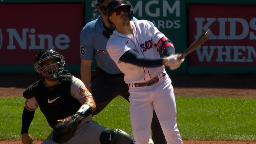
<svg viewBox="0 0 256 144">
<path fill-rule="evenodd" d="M 125 44 L 123 38 L 111 35 L 106 45 L 106 49 L 109 53 L 110 58 L 115 63 L 119 63 L 120 57 L 131 48 Z"/>
</svg>

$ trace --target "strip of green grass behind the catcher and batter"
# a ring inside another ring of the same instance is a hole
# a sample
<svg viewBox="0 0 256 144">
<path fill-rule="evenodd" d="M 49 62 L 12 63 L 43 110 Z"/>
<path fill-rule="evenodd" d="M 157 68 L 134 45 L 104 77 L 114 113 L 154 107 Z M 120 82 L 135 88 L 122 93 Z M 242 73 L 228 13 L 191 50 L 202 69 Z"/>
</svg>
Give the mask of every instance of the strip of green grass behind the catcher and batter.
<svg viewBox="0 0 256 144">
<path fill-rule="evenodd" d="M 0 140 L 21 139 L 24 98 L 0 98 Z M 177 123 L 184 140 L 255 141 L 255 98 L 176 97 Z M 115 98 L 93 119 L 100 125 L 119 128 L 132 134 L 129 103 Z M 36 110 L 29 133 L 44 140 L 51 128 L 39 109 Z"/>
</svg>

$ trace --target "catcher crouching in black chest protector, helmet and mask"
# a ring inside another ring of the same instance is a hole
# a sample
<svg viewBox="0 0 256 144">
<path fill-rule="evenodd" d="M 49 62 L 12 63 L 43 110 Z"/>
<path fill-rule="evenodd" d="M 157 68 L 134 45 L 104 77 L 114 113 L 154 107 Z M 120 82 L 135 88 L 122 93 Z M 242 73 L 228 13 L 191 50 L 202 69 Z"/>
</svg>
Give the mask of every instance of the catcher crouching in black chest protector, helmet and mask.
<svg viewBox="0 0 256 144">
<path fill-rule="evenodd" d="M 132 144 L 131 135 L 119 129 L 109 129 L 92 120 L 96 109 L 91 93 L 82 81 L 64 71 L 64 57 L 52 49 L 40 51 L 34 68 L 42 78 L 24 92 L 22 143 L 32 144 L 28 134 L 35 109 L 45 115 L 52 132 L 43 144 Z"/>
</svg>

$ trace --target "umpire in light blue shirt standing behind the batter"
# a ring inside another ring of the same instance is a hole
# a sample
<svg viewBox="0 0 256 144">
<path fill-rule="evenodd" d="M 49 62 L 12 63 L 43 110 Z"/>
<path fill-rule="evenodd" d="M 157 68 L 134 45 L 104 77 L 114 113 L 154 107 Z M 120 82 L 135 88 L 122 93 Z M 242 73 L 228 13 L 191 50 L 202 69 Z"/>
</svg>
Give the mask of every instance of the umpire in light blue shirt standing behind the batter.
<svg viewBox="0 0 256 144">
<path fill-rule="evenodd" d="M 95 2 L 101 16 L 87 23 L 80 35 L 81 78 L 96 102 L 97 109 L 93 115 L 97 115 L 112 99 L 119 95 L 129 101 L 129 87 L 124 82 L 124 74 L 106 51 L 107 41 L 115 29 L 106 17 L 106 6 L 110 1 L 97 0 Z M 133 18 L 133 20 L 137 19 Z M 91 72 L 93 55 L 98 67 Z M 155 111 L 151 129 L 154 143 L 167 143 Z"/>
</svg>

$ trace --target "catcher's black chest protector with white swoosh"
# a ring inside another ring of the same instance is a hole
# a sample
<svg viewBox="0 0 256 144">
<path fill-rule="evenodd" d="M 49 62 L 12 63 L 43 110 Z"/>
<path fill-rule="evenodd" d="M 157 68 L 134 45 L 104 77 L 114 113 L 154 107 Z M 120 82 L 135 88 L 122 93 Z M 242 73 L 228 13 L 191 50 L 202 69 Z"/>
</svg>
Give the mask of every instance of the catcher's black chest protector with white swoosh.
<svg viewBox="0 0 256 144">
<path fill-rule="evenodd" d="M 71 83 L 72 75 L 66 72 L 62 75 L 61 82 L 54 87 L 46 88 L 44 80 L 38 81 L 32 87 L 40 110 L 51 127 L 58 123 L 58 119 L 75 114 L 81 107 L 80 102 L 70 94 Z"/>
</svg>

